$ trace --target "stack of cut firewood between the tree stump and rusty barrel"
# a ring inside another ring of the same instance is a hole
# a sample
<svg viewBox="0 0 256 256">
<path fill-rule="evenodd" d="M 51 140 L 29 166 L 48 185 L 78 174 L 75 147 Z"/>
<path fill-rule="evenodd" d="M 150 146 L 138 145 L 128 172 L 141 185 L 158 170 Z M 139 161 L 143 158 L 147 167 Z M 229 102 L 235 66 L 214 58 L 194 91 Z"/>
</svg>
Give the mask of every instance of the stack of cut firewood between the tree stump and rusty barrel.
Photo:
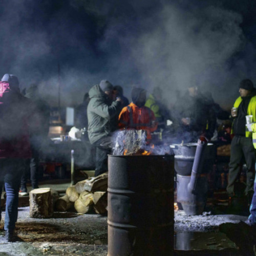
<svg viewBox="0 0 256 256">
<path fill-rule="evenodd" d="M 92 209 L 97 214 L 104 214 L 108 204 L 107 188 L 108 173 L 79 181 L 68 187 L 66 195 L 56 201 L 55 210 L 67 211 L 74 207 L 79 214 L 86 214 Z"/>
</svg>

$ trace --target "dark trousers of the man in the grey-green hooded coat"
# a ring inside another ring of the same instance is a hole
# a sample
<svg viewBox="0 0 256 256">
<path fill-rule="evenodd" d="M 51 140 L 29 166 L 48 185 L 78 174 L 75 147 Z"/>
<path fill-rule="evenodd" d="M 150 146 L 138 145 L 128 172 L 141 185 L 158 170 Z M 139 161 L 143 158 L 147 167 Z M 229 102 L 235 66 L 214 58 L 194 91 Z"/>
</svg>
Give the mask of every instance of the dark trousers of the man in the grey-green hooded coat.
<svg viewBox="0 0 256 256">
<path fill-rule="evenodd" d="M 105 136 L 97 140 L 96 146 L 95 176 L 108 172 L 108 154 L 111 154 L 111 137 Z"/>
</svg>

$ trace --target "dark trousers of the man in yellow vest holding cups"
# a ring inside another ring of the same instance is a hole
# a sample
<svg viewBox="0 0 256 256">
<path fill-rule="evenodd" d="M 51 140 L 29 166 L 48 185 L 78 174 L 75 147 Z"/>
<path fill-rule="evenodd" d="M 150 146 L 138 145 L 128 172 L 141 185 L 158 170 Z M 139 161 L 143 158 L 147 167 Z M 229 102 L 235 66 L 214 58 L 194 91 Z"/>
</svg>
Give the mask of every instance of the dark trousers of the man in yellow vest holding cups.
<svg viewBox="0 0 256 256">
<path fill-rule="evenodd" d="M 255 150 L 251 137 L 246 138 L 244 136 L 235 135 L 231 141 L 230 151 L 227 185 L 227 194 L 229 196 L 236 195 L 236 191 L 234 191 L 234 183 L 239 176 L 243 156 L 247 165 L 245 195 L 248 195 L 248 193 L 253 193 L 253 183 L 255 177 Z"/>
</svg>

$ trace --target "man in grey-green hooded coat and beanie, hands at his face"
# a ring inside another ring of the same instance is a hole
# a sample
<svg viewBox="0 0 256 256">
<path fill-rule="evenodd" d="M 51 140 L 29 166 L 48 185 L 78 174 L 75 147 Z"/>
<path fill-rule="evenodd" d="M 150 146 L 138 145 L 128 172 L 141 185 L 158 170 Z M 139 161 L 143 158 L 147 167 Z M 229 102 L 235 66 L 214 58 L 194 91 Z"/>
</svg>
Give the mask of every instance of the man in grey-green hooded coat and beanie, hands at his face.
<svg viewBox="0 0 256 256">
<path fill-rule="evenodd" d="M 92 145 L 96 146 L 95 176 L 108 172 L 108 154 L 111 152 L 111 131 L 113 117 L 120 112 L 122 100 L 113 98 L 113 86 L 102 80 L 89 91 L 88 104 L 88 136 Z M 118 127 L 116 127 L 118 129 Z"/>
</svg>

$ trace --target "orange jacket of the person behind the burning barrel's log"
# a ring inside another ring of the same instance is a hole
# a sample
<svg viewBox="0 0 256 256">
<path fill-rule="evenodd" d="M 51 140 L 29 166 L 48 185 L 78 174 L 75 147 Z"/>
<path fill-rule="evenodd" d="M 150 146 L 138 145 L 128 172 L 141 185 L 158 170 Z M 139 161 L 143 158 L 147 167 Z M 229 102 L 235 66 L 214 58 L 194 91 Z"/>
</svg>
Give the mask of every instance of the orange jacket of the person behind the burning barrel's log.
<svg viewBox="0 0 256 256">
<path fill-rule="evenodd" d="M 147 132 L 147 140 L 151 139 L 151 132 L 157 129 L 157 122 L 152 110 L 146 106 L 139 108 L 133 102 L 125 106 L 119 114 L 119 128 L 145 130 Z M 152 127 L 153 126 L 153 127 Z"/>
</svg>

